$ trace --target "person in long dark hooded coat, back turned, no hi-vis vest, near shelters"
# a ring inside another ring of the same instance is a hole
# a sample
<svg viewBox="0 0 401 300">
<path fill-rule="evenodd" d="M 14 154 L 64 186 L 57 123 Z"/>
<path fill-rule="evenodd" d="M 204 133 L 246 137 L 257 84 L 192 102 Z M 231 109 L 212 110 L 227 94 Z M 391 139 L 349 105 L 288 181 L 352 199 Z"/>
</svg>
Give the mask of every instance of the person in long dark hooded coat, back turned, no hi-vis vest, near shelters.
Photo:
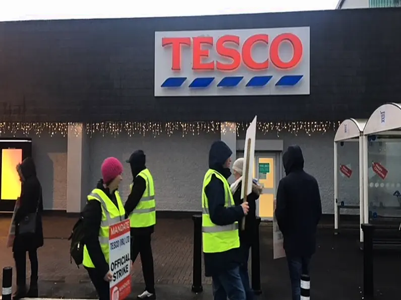
<svg viewBox="0 0 401 300">
<path fill-rule="evenodd" d="M 301 148 L 298 145 L 289 146 L 282 162 L 286 176 L 278 184 L 274 213 L 284 238 L 292 298 L 300 300 L 301 275 L 309 275 L 322 205 L 316 179 L 304 171 Z"/>
</svg>

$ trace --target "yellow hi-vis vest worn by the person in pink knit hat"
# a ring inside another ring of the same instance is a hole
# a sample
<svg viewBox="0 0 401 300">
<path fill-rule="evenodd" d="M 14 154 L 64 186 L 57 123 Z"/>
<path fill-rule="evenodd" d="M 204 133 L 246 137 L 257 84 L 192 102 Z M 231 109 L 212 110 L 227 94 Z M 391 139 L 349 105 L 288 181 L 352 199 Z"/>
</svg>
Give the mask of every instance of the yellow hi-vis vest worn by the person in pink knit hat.
<svg viewBox="0 0 401 300">
<path fill-rule="evenodd" d="M 94 189 L 88 195 L 88 201 L 99 201 L 101 204 L 102 219 L 99 229 L 99 243 L 107 263 L 109 258 L 108 228 L 110 225 L 116 224 L 125 219 L 125 209 L 123 202 L 121 201 L 120 194 L 118 191 L 115 191 L 114 194 L 116 195 L 117 204 L 119 206 L 118 208 L 100 189 Z M 84 246 L 84 260 L 82 264 L 87 268 L 95 267 L 92 259 L 90 258 L 88 249 L 86 249 L 86 245 Z"/>
</svg>

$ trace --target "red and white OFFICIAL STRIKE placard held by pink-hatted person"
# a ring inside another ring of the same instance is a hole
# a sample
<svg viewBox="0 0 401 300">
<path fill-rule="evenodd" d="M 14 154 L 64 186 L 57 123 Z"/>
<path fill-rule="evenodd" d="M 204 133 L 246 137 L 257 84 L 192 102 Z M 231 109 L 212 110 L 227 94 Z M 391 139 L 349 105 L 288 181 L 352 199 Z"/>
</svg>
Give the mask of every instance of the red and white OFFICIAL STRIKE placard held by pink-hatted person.
<svg viewBox="0 0 401 300">
<path fill-rule="evenodd" d="M 109 227 L 110 300 L 123 300 L 131 293 L 130 220 Z"/>
</svg>

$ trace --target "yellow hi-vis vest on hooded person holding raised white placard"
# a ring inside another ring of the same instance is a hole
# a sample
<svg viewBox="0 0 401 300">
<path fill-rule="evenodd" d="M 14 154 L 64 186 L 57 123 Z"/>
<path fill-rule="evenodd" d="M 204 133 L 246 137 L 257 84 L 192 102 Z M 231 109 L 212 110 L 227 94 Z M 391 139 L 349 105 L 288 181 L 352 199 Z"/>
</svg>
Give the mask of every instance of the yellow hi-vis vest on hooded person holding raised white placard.
<svg viewBox="0 0 401 300">
<path fill-rule="evenodd" d="M 234 206 L 233 194 L 227 180 L 217 171 L 208 170 L 203 179 L 202 188 L 202 244 L 204 253 L 219 253 L 240 247 L 238 236 L 238 222 L 230 225 L 218 226 L 214 224 L 209 215 L 209 203 L 205 188 L 209 184 L 212 175 L 223 182 L 224 186 L 224 207 Z"/>
</svg>

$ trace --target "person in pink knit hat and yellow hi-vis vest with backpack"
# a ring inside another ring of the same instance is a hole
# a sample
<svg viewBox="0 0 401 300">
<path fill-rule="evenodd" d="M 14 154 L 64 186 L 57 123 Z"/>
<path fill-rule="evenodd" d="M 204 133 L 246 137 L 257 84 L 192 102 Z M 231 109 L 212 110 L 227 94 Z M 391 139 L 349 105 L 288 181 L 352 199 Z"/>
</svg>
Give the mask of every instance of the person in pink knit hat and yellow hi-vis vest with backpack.
<svg viewBox="0 0 401 300">
<path fill-rule="evenodd" d="M 88 195 L 82 212 L 84 232 L 84 260 L 82 264 L 96 288 L 100 300 L 109 300 L 109 282 L 113 275 L 108 267 L 109 226 L 126 219 L 118 191 L 123 165 L 113 157 L 101 165 L 102 179 Z"/>
</svg>

